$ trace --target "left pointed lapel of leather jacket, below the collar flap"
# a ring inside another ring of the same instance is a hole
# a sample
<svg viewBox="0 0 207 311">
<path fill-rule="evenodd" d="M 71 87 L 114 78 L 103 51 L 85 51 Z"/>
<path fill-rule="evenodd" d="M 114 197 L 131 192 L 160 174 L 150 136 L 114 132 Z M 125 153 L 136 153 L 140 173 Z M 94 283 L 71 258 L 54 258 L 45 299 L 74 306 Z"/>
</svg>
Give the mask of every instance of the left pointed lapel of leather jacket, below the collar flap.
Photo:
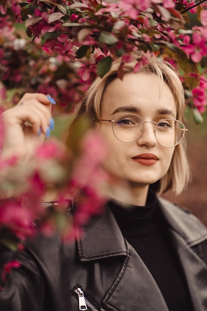
<svg viewBox="0 0 207 311">
<path fill-rule="evenodd" d="M 168 311 L 163 296 L 138 256 L 128 244 L 129 254 L 102 305 L 113 311 Z"/>
</svg>

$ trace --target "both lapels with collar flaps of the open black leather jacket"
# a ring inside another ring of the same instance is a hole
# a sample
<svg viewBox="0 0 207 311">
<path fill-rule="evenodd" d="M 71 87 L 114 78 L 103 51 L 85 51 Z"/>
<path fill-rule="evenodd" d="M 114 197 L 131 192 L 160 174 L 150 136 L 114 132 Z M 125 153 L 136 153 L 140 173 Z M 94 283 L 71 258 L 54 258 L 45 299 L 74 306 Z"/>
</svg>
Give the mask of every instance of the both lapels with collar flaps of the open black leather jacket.
<svg viewBox="0 0 207 311">
<path fill-rule="evenodd" d="M 194 309 L 204 311 L 207 308 L 207 266 L 194 252 L 194 246 L 207 239 L 207 229 L 192 214 L 164 199 L 159 201 L 186 275 Z M 124 256 L 120 273 L 102 302 L 107 310 L 168 310 L 154 279 L 137 252 L 123 238 L 109 208 L 84 226 L 77 244 L 80 261 Z"/>
</svg>

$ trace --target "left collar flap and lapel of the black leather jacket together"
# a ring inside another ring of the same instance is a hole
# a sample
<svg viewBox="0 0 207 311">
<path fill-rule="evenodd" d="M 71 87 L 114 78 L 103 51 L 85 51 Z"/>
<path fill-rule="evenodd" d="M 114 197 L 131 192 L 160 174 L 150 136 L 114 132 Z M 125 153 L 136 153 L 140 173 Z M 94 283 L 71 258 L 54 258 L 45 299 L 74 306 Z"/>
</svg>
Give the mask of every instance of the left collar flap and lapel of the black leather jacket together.
<svg viewBox="0 0 207 311">
<path fill-rule="evenodd" d="M 77 239 L 80 261 L 124 256 L 120 272 L 105 295 L 102 306 L 111 311 L 168 311 L 153 277 L 134 248 L 125 241 L 119 226 L 106 207 L 101 217 L 94 217 L 84 226 Z M 112 272 L 113 274 L 113 272 Z M 108 284 L 110 286 L 110 284 Z M 150 298 L 150 299 L 149 299 Z M 124 302 L 124 303 L 123 303 Z"/>
</svg>

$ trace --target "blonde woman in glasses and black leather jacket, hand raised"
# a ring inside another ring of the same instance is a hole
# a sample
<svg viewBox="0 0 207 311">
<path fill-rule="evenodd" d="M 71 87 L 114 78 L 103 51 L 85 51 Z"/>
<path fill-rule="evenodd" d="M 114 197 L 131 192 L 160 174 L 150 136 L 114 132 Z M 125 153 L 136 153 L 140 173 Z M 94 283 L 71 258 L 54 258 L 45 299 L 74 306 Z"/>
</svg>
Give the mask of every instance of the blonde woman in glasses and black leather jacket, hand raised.
<svg viewBox="0 0 207 311">
<path fill-rule="evenodd" d="M 72 135 L 79 118 L 91 119 L 108 143 L 104 168 L 129 183 L 131 198 L 109 198 L 105 213 L 91 219 L 74 243 L 38 236 L 15 254 L 21 267 L 0 292 L 0 310 L 207 310 L 207 229 L 157 196 L 179 193 L 189 180 L 183 87 L 170 66 L 152 59 L 134 74 L 135 63 L 125 65 L 123 80 L 117 78 L 116 62 L 94 81 L 70 130 Z M 41 127 L 42 142 L 50 118 L 45 95 L 25 95 L 3 116 L 2 156 L 18 147 L 24 159 L 31 152 L 25 135 L 37 144 Z M 25 120 L 33 123 L 26 134 Z M 78 207 L 78 195 L 70 206 Z M 1 248 L 5 259 L 8 251 Z"/>
</svg>

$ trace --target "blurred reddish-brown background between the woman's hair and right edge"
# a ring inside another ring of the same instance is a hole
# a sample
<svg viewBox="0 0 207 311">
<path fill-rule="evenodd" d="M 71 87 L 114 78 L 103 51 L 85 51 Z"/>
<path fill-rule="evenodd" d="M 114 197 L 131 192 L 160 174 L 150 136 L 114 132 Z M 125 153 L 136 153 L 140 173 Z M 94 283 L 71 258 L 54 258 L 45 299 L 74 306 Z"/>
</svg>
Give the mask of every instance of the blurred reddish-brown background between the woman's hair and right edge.
<svg viewBox="0 0 207 311">
<path fill-rule="evenodd" d="M 167 193 L 163 197 L 187 207 L 207 226 L 207 111 L 204 122 L 196 124 L 192 111 L 187 111 L 187 153 L 192 181 L 179 196 Z"/>
</svg>

